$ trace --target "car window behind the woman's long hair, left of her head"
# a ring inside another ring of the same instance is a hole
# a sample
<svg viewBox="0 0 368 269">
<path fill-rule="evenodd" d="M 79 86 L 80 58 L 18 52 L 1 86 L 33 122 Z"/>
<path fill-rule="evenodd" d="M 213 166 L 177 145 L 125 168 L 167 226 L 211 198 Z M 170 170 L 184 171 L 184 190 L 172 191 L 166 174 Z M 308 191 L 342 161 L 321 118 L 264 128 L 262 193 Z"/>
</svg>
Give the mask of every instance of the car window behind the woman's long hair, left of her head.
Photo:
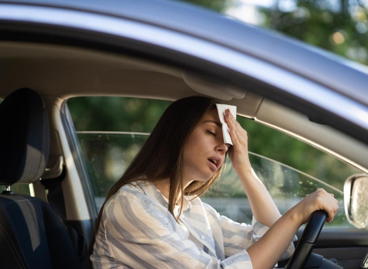
<svg viewBox="0 0 368 269">
<path fill-rule="evenodd" d="M 68 100 L 98 210 L 170 103 L 122 97 Z"/>
</svg>

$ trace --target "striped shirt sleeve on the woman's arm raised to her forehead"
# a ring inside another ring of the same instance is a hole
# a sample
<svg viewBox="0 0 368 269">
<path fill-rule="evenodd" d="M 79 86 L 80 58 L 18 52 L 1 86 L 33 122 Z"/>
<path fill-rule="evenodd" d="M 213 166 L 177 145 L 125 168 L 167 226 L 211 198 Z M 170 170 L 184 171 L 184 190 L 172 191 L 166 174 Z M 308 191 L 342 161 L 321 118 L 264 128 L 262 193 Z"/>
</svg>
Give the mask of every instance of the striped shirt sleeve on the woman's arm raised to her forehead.
<svg viewBox="0 0 368 269">
<path fill-rule="evenodd" d="M 269 229 L 268 226 L 259 222 L 254 216 L 251 224 L 238 223 L 226 216 L 220 215 L 214 208 L 212 208 L 212 206 L 208 204 L 205 205 L 209 214 L 212 215 L 212 217 L 217 218 L 217 222 L 220 224 L 223 235 L 225 257 L 235 255 L 239 251 L 249 248 Z M 298 238 L 294 236 L 293 241 L 296 240 L 298 240 Z M 294 250 L 294 243 L 291 242 L 287 250 L 281 256 L 280 261 L 290 258 Z"/>
</svg>

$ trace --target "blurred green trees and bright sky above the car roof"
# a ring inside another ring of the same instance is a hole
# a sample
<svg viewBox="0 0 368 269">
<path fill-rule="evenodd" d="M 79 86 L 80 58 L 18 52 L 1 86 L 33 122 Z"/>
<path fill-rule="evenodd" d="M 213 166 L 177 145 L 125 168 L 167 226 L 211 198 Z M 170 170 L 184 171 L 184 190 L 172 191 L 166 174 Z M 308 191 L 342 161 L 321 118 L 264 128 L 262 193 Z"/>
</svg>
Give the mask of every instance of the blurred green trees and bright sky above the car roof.
<svg viewBox="0 0 368 269">
<path fill-rule="evenodd" d="M 368 0 L 188 0 L 368 64 Z"/>
</svg>

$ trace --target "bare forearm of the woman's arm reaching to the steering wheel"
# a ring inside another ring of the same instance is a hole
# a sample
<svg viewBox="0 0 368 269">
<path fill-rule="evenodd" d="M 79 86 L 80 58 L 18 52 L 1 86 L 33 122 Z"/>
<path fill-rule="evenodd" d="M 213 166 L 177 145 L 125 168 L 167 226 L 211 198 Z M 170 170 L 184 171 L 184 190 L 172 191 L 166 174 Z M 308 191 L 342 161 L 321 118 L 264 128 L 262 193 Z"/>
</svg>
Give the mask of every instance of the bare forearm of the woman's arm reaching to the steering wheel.
<svg viewBox="0 0 368 269">
<path fill-rule="evenodd" d="M 254 269 L 273 268 L 301 226 L 291 210 L 280 217 L 247 252 Z"/>
</svg>

